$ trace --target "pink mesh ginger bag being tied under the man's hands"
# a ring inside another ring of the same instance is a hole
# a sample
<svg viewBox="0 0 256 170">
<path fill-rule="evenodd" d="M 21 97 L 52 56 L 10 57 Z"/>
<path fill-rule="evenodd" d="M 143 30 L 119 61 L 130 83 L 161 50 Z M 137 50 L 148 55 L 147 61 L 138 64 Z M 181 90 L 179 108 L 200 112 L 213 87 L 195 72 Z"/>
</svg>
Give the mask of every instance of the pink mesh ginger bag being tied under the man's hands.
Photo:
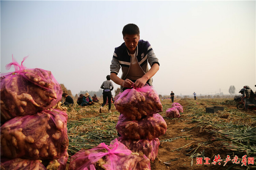
<svg viewBox="0 0 256 170">
<path fill-rule="evenodd" d="M 114 105 L 118 112 L 131 120 L 139 120 L 143 116 L 162 112 L 158 94 L 149 85 L 119 93 L 115 97 Z"/>
</svg>

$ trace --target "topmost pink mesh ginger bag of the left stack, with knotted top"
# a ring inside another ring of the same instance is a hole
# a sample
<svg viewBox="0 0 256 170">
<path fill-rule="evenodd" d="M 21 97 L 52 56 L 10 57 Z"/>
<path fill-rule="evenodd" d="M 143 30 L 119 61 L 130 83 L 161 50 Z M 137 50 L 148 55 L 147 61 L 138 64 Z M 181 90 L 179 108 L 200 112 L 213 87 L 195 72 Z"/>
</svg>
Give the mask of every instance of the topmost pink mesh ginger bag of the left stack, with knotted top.
<svg viewBox="0 0 256 170">
<path fill-rule="evenodd" d="M 27 69 L 14 59 L 6 65 L 14 72 L 1 74 L 1 122 L 15 116 L 35 114 L 55 106 L 61 100 L 62 88 L 51 71 L 40 68 Z"/>
</svg>

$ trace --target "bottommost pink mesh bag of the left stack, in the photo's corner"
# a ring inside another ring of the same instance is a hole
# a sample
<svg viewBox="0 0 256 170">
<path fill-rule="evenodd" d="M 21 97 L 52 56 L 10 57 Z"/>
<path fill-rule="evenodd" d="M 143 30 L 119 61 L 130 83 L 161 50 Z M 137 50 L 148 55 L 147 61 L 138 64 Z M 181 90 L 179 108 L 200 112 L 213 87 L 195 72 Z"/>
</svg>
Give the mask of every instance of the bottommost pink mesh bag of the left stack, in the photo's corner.
<svg viewBox="0 0 256 170">
<path fill-rule="evenodd" d="M 1 158 L 1 170 L 46 170 L 41 160 L 30 159 L 2 159 Z"/>
</svg>

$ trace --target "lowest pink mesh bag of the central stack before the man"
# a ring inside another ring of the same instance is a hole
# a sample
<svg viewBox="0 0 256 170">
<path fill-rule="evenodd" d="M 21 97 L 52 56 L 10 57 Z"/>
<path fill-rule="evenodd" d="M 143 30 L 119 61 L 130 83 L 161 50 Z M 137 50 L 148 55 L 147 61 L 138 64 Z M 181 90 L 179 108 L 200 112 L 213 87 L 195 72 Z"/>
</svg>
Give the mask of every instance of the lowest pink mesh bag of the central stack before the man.
<svg viewBox="0 0 256 170">
<path fill-rule="evenodd" d="M 140 140 L 131 140 L 124 139 L 123 137 L 117 138 L 118 141 L 123 143 L 128 149 L 132 152 L 142 152 L 149 158 L 151 161 L 154 161 L 157 153 L 160 141 L 158 138 L 153 140 L 140 139 Z"/>
</svg>

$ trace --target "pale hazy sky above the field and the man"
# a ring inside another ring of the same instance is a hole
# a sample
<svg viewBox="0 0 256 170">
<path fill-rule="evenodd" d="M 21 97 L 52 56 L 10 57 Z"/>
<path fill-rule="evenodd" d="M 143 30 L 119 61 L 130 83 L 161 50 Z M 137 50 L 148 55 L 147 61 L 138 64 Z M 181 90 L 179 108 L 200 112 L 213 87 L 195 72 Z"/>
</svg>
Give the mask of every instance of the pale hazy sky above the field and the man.
<svg viewBox="0 0 256 170">
<path fill-rule="evenodd" d="M 1 73 L 52 71 L 75 95 L 98 91 L 123 27 L 135 23 L 159 59 L 161 95 L 228 94 L 256 84 L 255 1 L 0 1 Z M 118 73 L 118 77 L 122 70 Z M 119 85 L 114 84 L 114 89 Z M 112 93 L 113 94 L 113 93 Z"/>
</svg>

